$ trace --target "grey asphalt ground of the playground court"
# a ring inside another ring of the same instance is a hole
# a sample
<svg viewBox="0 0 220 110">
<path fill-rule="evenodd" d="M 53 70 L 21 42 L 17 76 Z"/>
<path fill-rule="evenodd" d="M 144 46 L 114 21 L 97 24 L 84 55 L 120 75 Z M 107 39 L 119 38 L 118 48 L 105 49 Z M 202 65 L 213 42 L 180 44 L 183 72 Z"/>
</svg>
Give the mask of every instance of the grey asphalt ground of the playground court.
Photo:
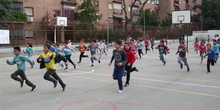
<svg viewBox="0 0 220 110">
<path fill-rule="evenodd" d="M 185 66 L 180 69 L 177 63 L 178 44 L 168 46 L 171 51 L 165 56 L 165 66 L 159 60 L 158 50 L 136 60 L 134 66 L 139 72 L 131 73 L 130 85 L 123 93 L 117 93 L 117 81 L 112 79 L 114 67 L 108 66 L 113 48 L 94 67 L 89 58 L 82 59 L 77 69 L 69 64 L 64 71 L 57 65 L 58 75 L 67 84 L 64 92 L 60 85 L 53 88 L 51 82 L 43 79 L 46 70 L 39 69 L 39 64 L 30 69 L 26 63 L 27 78 L 37 89 L 30 92 L 27 85 L 20 88 L 20 83 L 10 78 L 16 65 L 5 62 L 12 60 L 13 54 L 1 54 L 0 110 L 219 110 L 220 62 L 211 66 L 211 73 L 206 73 L 206 59 L 200 64 L 199 54 L 193 52 L 189 43 L 187 72 Z M 79 52 L 72 55 L 72 60 L 77 63 L 78 57 Z"/>
</svg>

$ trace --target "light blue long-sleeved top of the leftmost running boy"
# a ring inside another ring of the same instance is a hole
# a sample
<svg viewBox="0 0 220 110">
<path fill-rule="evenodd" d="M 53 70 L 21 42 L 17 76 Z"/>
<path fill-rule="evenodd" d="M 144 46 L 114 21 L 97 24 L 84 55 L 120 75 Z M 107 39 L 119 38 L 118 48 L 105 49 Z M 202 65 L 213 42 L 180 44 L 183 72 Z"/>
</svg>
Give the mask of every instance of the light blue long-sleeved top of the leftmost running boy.
<svg viewBox="0 0 220 110">
<path fill-rule="evenodd" d="M 14 57 L 13 61 L 8 61 L 7 63 L 9 65 L 14 65 L 14 64 L 17 64 L 17 68 L 18 70 L 21 70 L 21 71 L 25 71 L 25 61 L 29 62 L 31 66 L 34 65 L 33 61 L 30 60 L 28 57 L 25 57 L 21 54 L 18 54 Z"/>
</svg>

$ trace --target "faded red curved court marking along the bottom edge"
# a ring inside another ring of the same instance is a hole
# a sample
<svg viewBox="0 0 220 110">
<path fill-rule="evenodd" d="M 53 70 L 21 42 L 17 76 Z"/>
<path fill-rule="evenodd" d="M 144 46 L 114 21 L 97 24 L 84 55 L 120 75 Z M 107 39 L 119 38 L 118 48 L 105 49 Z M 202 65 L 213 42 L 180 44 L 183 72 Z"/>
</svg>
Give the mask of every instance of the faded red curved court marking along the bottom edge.
<svg viewBox="0 0 220 110">
<path fill-rule="evenodd" d="M 70 102 L 67 104 L 62 105 L 58 110 L 63 110 L 64 107 L 70 106 L 72 104 L 76 103 L 83 103 L 83 102 L 97 102 L 97 104 L 92 105 L 88 108 L 82 109 L 82 110 L 87 110 L 87 109 L 92 109 L 96 106 L 103 105 L 103 104 L 108 104 L 112 107 L 112 110 L 117 110 L 117 104 L 118 105 L 130 105 L 130 106 L 145 106 L 145 107 L 154 107 L 154 108 L 168 108 L 168 109 L 185 109 L 185 110 L 213 110 L 213 109 L 203 109 L 203 108 L 189 108 L 189 107 L 176 107 L 176 106 L 162 106 L 162 105 L 147 105 L 147 104 L 135 104 L 135 103 L 118 103 L 118 102 L 106 102 L 106 101 L 96 101 L 96 100 L 81 100 L 81 101 L 76 101 L 76 102 Z"/>
</svg>

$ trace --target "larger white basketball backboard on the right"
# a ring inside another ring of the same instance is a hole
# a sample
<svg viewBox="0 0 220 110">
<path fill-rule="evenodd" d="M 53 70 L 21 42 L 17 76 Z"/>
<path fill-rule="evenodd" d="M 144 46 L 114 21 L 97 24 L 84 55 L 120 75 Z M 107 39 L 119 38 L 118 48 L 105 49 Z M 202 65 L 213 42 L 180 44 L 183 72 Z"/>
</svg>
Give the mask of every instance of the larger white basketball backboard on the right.
<svg viewBox="0 0 220 110">
<path fill-rule="evenodd" d="M 191 11 L 172 11 L 172 23 L 173 24 L 187 24 L 191 23 Z"/>
</svg>

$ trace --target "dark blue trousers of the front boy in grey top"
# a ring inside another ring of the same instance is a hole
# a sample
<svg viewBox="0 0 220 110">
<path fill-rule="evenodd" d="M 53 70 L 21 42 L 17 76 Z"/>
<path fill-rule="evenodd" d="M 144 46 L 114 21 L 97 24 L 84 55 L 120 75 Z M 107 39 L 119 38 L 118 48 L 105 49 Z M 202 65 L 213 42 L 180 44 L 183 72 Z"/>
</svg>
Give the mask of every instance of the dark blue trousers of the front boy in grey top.
<svg viewBox="0 0 220 110">
<path fill-rule="evenodd" d="M 118 87 L 123 90 L 122 77 L 124 75 L 125 66 L 115 67 L 113 72 L 113 79 L 118 80 Z"/>
</svg>

